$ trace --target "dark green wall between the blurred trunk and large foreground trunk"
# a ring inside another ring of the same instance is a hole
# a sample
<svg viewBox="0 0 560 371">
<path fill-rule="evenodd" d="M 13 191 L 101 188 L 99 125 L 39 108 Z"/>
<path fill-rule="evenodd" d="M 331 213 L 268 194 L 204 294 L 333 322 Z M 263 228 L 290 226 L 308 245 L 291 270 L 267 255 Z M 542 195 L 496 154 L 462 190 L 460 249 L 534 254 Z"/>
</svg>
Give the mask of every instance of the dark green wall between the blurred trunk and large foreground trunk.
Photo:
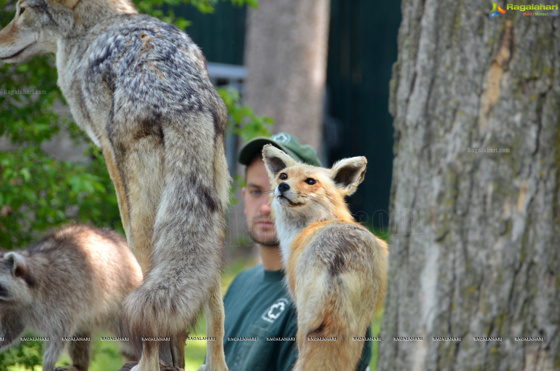
<svg viewBox="0 0 560 371">
<path fill-rule="evenodd" d="M 349 203 L 362 222 L 388 228 L 393 167 L 389 80 L 397 57 L 400 1 L 331 3 L 328 112 L 339 120 L 340 138 L 329 151 L 329 162 L 349 156 L 368 159 L 366 178 Z"/>
</svg>

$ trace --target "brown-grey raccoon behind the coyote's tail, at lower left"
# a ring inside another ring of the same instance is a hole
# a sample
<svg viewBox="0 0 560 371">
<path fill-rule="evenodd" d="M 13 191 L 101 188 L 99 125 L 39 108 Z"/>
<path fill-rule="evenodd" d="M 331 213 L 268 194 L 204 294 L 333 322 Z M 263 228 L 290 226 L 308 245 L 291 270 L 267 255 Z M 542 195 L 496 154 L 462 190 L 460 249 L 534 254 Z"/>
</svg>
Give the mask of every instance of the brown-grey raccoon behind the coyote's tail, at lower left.
<svg viewBox="0 0 560 371">
<path fill-rule="evenodd" d="M 0 348 L 25 328 L 49 337 L 43 371 L 52 371 L 65 345 L 72 367 L 87 370 L 96 330 L 119 334 L 119 303 L 142 282 L 142 271 L 126 240 L 115 232 L 67 226 L 26 250 L 0 252 Z M 123 355 L 134 358 L 127 341 Z"/>
</svg>

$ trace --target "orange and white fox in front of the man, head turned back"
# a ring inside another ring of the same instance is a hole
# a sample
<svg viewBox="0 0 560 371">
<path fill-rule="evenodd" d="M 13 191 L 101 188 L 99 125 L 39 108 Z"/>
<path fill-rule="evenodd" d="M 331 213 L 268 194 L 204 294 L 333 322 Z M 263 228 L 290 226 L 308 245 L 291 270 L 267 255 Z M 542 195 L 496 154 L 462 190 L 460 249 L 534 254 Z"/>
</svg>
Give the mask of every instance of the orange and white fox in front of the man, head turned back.
<svg viewBox="0 0 560 371">
<path fill-rule="evenodd" d="M 344 202 L 362 182 L 366 158 L 325 169 L 267 144 L 263 159 L 276 186 L 271 207 L 297 309 L 294 370 L 353 371 L 363 341 L 352 338 L 366 334 L 387 286 L 386 243 L 356 223 Z"/>
</svg>

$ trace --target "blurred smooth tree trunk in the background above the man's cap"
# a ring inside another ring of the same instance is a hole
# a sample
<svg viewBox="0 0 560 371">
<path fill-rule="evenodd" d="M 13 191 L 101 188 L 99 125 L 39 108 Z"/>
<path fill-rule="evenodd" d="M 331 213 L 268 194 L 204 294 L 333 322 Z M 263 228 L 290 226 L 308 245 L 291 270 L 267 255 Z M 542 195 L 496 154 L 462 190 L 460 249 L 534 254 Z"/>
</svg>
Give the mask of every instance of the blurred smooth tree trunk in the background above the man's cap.
<svg viewBox="0 0 560 371">
<path fill-rule="evenodd" d="M 259 0 L 250 10 L 245 42 L 244 101 L 274 119 L 273 132 L 288 132 L 318 150 L 329 0 Z"/>
</svg>

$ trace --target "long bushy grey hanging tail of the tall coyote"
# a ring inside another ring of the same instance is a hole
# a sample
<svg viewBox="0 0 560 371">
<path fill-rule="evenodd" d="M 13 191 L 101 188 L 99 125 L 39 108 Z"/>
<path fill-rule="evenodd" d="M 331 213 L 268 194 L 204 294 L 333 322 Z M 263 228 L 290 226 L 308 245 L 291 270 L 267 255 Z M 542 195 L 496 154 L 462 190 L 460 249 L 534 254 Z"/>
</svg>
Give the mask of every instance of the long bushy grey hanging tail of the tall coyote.
<svg viewBox="0 0 560 371">
<path fill-rule="evenodd" d="M 190 121 L 199 130 L 216 127 L 200 120 L 217 120 L 215 114 L 199 113 Z M 137 349 L 142 337 L 171 337 L 192 328 L 220 281 L 230 176 L 223 136 L 203 134 L 208 140 L 194 143 L 184 126 L 164 128 L 164 188 L 150 267 L 143 284 L 124 299 L 120 321 Z"/>
</svg>

